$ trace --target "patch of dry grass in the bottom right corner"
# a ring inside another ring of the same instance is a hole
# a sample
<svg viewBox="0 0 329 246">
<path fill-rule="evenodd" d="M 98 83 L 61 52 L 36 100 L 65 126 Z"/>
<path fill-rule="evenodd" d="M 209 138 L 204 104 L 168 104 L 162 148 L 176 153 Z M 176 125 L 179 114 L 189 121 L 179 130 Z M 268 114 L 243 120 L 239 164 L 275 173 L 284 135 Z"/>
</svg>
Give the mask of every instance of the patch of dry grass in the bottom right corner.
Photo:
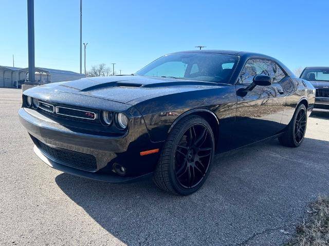
<svg viewBox="0 0 329 246">
<path fill-rule="evenodd" d="M 296 237 L 286 246 L 329 245 L 329 197 L 319 197 L 310 204 L 309 216 L 296 229 Z"/>
</svg>

